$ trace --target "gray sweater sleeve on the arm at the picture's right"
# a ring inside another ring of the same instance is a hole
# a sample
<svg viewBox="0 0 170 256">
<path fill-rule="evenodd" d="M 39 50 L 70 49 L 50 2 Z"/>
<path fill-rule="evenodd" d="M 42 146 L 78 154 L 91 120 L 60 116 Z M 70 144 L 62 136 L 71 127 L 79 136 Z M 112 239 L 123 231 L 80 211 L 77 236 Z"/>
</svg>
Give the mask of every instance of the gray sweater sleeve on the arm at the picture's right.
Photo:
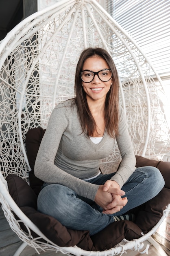
<svg viewBox="0 0 170 256">
<path fill-rule="evenodd" d="M 135 171 L 136 158 L 133 150 L 133 145 L 127 129 L 126 116 L 124 110 L 120 108 L 119 135 L 116 136 L 116 141 L 122 157 L 122 162 L 116 174 L 111 178 L 118 182 L 120 188 L 129 179 Z"/>
</svg>

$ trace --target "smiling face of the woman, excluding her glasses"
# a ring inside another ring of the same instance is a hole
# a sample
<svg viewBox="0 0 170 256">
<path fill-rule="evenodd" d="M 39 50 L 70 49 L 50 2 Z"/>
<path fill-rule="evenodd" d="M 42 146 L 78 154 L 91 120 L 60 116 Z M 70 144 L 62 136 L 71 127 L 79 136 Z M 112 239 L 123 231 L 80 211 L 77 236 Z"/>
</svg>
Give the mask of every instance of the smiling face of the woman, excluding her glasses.
<svg viewBox="0 0 170 256">
<path fill-rule="evenodd" d="M 98 72 L 100 70 L 109 69 L 107 62 L 100 56 L 92 56 L 87 58 L 83 65 L 83 70 L 90 70 L 93 72 Z M 87 74 L 88 76 L 88 74 Z M 87 102 L 90 101 L 99 101 L 106 99 L 106 94 L 109 92 L 111 87 L 112 79 L 107 82 L 103 82 L 99 79 L 98 75 L 94 76 L 94 79 L 85 83 L 82 81 L 83 90 L 86 93 Z"/>
</svg>

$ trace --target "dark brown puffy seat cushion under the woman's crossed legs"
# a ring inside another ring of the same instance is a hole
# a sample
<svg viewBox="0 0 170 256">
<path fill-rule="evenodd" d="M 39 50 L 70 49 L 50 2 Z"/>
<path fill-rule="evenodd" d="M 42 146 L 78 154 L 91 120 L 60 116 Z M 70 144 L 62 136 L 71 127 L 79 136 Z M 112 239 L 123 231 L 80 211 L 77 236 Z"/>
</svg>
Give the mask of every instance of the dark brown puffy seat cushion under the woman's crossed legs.
<svg viewBox="0 0 170 256">
<path fill-rule="evenodd" d="M 170 202 L 170 189 L 163 188 L 152 200 L 135 210 L 135 223 L 130 221 L 114 222 L 102 231 L 90 237 L 88 231 L 67 229 L 59 221 L 37 211 L 37 195 L 21 177 L 9 174 L 7 177 L 9 193 L 25 215 L 53 243 L 59 246 L 74 246 L 85 250 L 110 249 L 120 243 L 123 238 L 132 240 L 139 238 L 141 232 L 147 233 L 161 218 L 163 210 Z M 24 225 L 21 225 L 25 229 Z M 37 235 L 32 231 L 32 236 Z"/>
</svg>

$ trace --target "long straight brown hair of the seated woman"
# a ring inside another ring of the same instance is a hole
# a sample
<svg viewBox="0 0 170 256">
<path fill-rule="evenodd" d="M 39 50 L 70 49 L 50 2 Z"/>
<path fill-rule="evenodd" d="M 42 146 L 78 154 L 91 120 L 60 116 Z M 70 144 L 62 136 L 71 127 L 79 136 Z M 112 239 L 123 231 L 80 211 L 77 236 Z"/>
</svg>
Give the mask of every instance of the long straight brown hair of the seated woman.
<svg viewBox="0 0 170 256">
<path fill-rule="evenodd" d="M 119 99 L 119 79 L 118 72 L 116 70 L 113 59 L 109 55 L 109 53 L 102 48 L 87 48 L 82 53 L 78 60 L 76 66 L 76 74 L 75 74 L 75 103 L 78 108 L 78 115 L 81 121 L 81 126 L 83 131 L 87 132 L 87 135 L 93 136 L 96 131 L 96 122 L 92 116 L 92 113 L 89 110 L 86 93 L 81 86 L 81 71 L 83 69 L 83 64 L 87 58 L 92 56 L 100 56 L 103 58 L 112 72 L 112 85 L 109 92 L 106 95 L 105 100 L 105 124 L 106 130 L 111 137 L 115 137 L 118 134 L 118 123 L 119 123 L 119 110 L 118 110 L 118 99 Z"/>
</svg>

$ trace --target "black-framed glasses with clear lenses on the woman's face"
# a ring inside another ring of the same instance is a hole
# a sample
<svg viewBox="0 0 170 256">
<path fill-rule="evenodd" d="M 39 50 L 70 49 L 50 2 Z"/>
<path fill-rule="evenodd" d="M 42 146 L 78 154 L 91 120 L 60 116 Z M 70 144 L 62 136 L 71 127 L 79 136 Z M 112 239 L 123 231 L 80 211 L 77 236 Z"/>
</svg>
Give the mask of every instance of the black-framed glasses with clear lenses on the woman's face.
<svg viewBox="0 0 170 256">
<path fill-rule="evenodd" d="M 112 78 L 111 70 L 105 68 L 104 70 L 100 70 L 98 72 L 93 72 L 91 70 L 83 70 L 81 72 L 81 79 L 85 83 L 90 83 L 93 81 L 94 76 L 96 75 L 102 82 L 107 82 Z"/>
</svg>

